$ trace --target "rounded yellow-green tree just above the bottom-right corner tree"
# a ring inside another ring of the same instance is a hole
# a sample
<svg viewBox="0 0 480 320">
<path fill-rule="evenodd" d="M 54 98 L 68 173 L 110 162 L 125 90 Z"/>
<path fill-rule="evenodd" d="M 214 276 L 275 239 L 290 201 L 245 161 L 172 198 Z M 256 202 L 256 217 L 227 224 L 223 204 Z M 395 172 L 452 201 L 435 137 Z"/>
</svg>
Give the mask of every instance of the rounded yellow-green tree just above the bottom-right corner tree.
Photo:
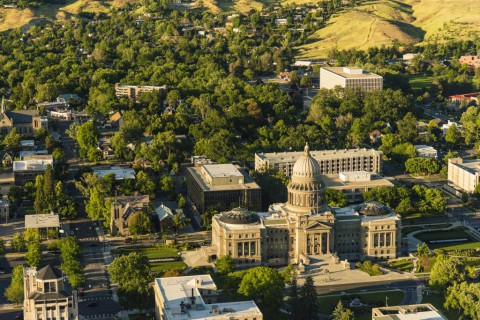
<svg viewBox="0 0 480 320">
<path fill-rule="evenodd" d="M 429 284 L 440 289 L 465 281 L 467 276 L 465 264 L 458 258 L 439 255 L 432 267 Z"/>
</svg>

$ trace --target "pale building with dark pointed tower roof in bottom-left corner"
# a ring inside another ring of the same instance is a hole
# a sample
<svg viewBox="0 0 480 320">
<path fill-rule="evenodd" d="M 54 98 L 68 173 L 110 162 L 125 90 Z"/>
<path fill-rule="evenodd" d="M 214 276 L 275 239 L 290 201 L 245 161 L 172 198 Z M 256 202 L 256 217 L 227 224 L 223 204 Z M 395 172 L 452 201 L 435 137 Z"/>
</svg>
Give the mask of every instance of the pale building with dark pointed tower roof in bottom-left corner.
<svg viewBox="0 0 480 320">
<path fill-rule="evenodd" d="M 78 320 L 77 292 L 71 290 L 60 270 L 50 265 L 24 268 L 23 317 L 25 320 Z"/>
</svg>

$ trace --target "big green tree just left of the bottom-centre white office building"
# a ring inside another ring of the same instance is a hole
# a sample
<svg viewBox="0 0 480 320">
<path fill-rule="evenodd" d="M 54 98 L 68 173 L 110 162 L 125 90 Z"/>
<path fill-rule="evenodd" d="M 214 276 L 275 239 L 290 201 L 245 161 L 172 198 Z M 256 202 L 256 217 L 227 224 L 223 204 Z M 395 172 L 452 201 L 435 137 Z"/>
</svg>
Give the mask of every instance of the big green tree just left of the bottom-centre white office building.
<svg viewBox="0 0 480 320">
<path fill-rule="evenodd" d="M 127 309 L 148 307 L 152 297 L 150 263 L 144 255 L 132 252 L 116 258 L 108 267 L 111 282 L 118 284 L 120 303 Z"/>
</svg>

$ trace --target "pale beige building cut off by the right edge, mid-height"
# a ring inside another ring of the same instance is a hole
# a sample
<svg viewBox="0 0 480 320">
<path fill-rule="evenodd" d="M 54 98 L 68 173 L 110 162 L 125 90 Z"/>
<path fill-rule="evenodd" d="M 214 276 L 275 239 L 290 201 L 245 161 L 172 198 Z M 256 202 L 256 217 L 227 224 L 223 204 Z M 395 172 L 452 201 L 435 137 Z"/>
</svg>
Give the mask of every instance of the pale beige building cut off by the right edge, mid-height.
<svg viewBox="0 0 480 320">
<path fill-rule="evenodd" d="M 480 160 L 449 159 L 448 182 L 465 192 L 472 193 L 480 183 Z"/>
</svg>

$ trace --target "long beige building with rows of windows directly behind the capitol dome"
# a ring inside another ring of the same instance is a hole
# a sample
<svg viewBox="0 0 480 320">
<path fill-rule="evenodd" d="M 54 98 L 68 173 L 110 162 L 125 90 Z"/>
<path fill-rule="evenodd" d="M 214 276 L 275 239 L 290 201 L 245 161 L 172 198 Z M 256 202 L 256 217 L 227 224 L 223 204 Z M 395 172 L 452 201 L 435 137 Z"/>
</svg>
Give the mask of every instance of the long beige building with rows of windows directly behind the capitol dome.
<svg viewBox="0 0 480 320">
<path fill-rule="evenodd" d="M 320 174 L 352 171 L 380 173 L 382 170 L 383 153 L 374 149 L 317 150 L 310 154 L 317 160 Z M 255 153 L 255 171 L 274 169 L 290 177 L 295 162 L 302 155 L 302 151 Z"/>
</svg>

